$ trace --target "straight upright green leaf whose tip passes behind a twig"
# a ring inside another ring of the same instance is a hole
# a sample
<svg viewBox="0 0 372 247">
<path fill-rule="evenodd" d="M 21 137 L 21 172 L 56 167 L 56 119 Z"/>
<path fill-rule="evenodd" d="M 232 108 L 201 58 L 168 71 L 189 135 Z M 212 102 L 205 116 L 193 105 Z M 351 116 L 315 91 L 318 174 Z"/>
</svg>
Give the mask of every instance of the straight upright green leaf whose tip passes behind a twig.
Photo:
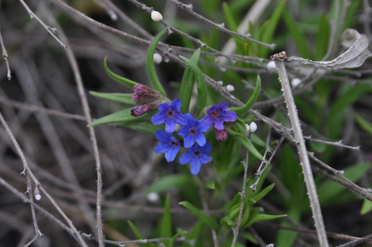
<svg viewBox="0 0 372 247">
<path fill-rule="evenodd" d="M 200 57 L 200 48 L 198 48 L 191 57 L 191 60 L 198 64 L 198 60 Z M 185 68 L 185 72 L 183 72 L 182 82 L 181 82 L 181 90 L 180 90 L 180 100 L 182 102 L 182 106 L 180 109 L 181 113 L 189 112 L 190 100 L 192 96 L 192 88 L 194 86 L 194 74 L 190 69 L 190 65 L 187 65 Z"/>
</svg>

